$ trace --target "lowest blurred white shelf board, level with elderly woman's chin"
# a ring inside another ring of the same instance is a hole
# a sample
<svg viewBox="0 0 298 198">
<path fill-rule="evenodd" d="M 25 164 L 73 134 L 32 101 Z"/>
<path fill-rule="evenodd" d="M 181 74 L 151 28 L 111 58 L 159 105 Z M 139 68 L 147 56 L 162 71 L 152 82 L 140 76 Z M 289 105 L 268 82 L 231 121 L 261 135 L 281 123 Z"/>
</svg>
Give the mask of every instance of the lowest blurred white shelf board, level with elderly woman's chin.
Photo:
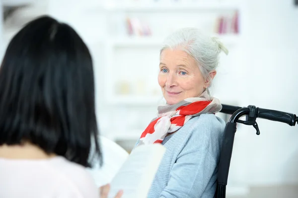
<svg viewBox="0 0 298 198">
<path fill-rule="evenodd" d="M 111 104 L 118 105 L 157 105 L 162 101 L 161 96 L 146 97 L 146 96 L 115 96 L 107 101 Z"/>
</svg>

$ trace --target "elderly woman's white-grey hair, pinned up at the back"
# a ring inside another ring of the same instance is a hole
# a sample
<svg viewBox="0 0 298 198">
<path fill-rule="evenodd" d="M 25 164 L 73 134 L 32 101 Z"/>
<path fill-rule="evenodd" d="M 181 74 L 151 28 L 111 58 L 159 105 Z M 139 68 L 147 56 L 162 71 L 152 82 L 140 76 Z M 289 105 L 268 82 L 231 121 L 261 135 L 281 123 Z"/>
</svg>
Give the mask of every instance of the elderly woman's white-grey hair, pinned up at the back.
<svg viewBox="0 0 298 198">
<path fill-rule="evenodd" d="M 164 49 L 181 49 L 187 52 L 197 61 L 202 76 L 208 80 L 209 86 L 212 83 L 209 74 L 217 69 L 220 53 L 224 51 L 226 55 L 228 54 L 228 50 L 218 38 L 209 37 L 197 28 L 182 28 L 173 32 L 165 39 L 160 53 Z"/>
</svg>

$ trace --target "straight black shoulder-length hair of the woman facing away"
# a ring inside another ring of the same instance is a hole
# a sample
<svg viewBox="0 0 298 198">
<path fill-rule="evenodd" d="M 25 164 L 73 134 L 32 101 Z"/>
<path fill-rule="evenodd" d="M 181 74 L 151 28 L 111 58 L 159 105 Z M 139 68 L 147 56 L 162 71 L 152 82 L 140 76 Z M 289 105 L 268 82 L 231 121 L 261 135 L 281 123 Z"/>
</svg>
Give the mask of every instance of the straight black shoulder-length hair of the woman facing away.
<svg viewBox="0 0 298 198">
<path fill-rule="evenodd" d="M 12 38 L 0 67 L 0 145 L 28 142 L 89 166 L 91 145 L 101 160 L 94 100 L 86 45 L 69 25 L 39 17 Z"/>
</svg>

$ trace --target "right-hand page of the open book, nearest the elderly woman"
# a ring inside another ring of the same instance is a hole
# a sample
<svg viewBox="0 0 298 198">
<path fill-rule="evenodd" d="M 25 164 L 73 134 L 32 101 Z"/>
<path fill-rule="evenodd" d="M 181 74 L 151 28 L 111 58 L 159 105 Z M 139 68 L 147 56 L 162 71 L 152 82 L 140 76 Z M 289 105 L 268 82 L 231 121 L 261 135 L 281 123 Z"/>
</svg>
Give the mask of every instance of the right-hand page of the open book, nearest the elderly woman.
<svg viewBox="0 0 298 198">
<path fill-rule="evenodd" d="M 110 183 L 109 198 L 123 190 L 121 198 L 147 198 L 165 152 L 161 144 L 136 147 Z"/>
</svg>

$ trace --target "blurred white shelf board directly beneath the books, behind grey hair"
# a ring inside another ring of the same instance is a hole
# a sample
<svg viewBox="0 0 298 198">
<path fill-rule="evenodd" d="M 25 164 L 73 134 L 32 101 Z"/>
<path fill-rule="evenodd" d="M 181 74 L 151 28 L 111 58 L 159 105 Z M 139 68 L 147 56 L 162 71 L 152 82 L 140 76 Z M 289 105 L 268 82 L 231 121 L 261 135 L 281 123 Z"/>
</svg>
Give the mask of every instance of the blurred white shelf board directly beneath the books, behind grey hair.
<svg viewBox="0 0 298 198">
<path fill-rule="evenodd" d="M 239 40 L 238 35 L 216 35 L 226 45 L 235 44 Z M 156 37 L 120 37 L 107 40 L 112 47 L 161 47 L 163 38 Z"/>
</svg>

